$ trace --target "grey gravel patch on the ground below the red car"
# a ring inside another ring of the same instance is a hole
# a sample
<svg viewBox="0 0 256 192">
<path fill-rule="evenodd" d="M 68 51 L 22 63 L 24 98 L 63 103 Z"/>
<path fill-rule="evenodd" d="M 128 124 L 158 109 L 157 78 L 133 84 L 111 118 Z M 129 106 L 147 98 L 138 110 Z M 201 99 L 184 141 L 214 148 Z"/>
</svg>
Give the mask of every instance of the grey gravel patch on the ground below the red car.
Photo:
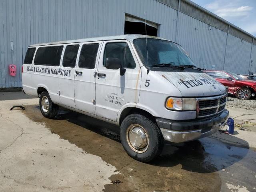
<svg viewBox="0 0 256 192">
<path fill-rule="evenodd" d="M 229 96 L 226 106 L 243 108 L 248 110 L 256 110 L 256 100 L 254 98 L 250 100 L 242 100 L 242 99 L 237 99 L 235 97 Z"/>
</svg>

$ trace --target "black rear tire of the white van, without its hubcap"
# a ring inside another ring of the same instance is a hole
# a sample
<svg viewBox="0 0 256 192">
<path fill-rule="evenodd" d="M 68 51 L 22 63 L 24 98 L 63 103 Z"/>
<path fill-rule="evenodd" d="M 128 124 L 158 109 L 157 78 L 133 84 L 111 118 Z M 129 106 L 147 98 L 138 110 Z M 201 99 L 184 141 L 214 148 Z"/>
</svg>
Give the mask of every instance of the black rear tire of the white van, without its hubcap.
<svg viewBox="0 0 256 192">
<path fill-rule="evenodd" d="M 48 103 L 49 103 L 49 108 L 47 112 L 45 112 L 42 108 L 42 98 L 45 98 L 45 97 L 48 99 Z M 58 114 L 59 106 L 52 102 L 48 92 L 42 92 L 40 94 L 39 106 L 40 106 L 40 111 L 42 115 L 46 118 L 53 119 Z"/>
</svg>

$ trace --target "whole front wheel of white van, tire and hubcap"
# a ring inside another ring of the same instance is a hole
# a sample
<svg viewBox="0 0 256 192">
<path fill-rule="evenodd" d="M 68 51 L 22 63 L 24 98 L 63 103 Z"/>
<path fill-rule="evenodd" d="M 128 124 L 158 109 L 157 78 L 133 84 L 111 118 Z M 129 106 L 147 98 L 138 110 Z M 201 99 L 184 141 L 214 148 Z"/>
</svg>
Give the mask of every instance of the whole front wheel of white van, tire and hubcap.
<svg viewBox="0 0 256 192">
<path fill-rule="evenodd" d="M 141 162 L 149 162 L 163 148 L 162 133 L 150 118 L 130 114 L 120 127 L 120 139 L 127 154 Z"/>
</svg>

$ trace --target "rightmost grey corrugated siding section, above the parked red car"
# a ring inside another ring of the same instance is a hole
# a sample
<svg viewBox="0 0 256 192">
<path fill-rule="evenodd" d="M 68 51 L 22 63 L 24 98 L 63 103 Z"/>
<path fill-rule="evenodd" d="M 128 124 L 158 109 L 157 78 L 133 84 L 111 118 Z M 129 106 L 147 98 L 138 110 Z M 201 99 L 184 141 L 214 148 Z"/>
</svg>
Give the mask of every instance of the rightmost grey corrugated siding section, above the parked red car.
<svg viewBox="0 0 256 192">
<path fill-rule="evenodd" d="M 251 46 L 252 44 L 229 34 L 224 70 L 248 74 Z"/>
</svg>

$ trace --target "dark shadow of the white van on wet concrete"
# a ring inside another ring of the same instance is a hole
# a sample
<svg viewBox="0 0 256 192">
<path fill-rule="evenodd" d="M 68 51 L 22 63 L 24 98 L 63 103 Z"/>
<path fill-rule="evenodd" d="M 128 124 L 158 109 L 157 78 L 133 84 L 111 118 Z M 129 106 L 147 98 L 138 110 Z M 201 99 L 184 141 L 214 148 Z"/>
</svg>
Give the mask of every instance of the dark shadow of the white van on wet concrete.
<svg viewBox="0 0 256 192">
<path fill-rule="evenodd" d="M 120 143 L 119 126 L 69 110 L 60 110 L 56 119 L 67 120 Z M 232 141 L 233 136 L 226 135 L 225 138 L 227 141 Z M 235 143 L 243 143 L 243 145 L 238 146 L 212 136 L 181 144 L 166 142 L 160 156 L 147 164 L 160 167 L 174 167 L 181 164 L 182 169 L 190 172 L 216 172 L 242 160 L 248 153 L 249 145 L 246 141 L 236 138 Z"/>
</svg>

